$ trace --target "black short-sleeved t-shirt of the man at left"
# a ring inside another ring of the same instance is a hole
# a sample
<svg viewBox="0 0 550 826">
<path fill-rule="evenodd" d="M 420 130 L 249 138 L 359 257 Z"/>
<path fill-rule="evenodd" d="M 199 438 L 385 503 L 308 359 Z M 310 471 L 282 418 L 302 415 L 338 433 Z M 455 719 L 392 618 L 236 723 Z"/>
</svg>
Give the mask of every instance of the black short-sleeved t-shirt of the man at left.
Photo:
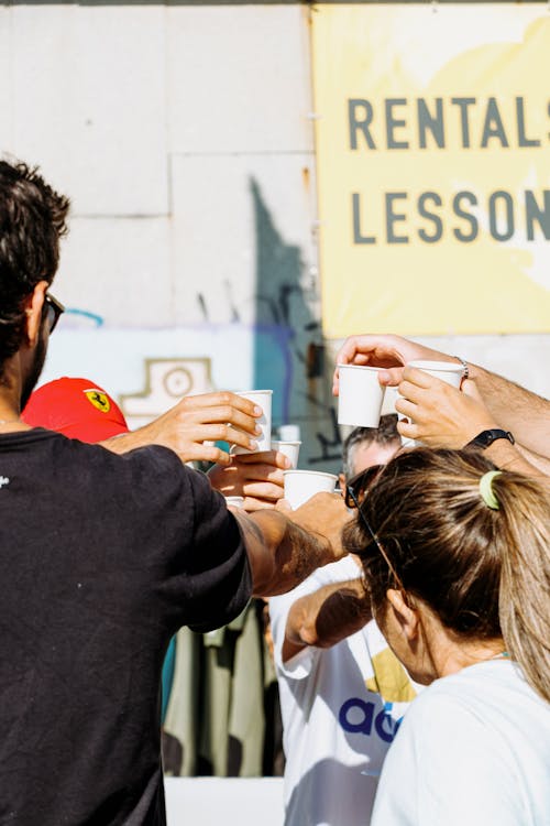
<svg viewBox="0 0 550 826">
<path fill-rule="evenodd" d="M 170 450 L 0 436 L 0 824 L 164 824 L 168 641 L 250 593 L 235 519 Z"/>
</svg>

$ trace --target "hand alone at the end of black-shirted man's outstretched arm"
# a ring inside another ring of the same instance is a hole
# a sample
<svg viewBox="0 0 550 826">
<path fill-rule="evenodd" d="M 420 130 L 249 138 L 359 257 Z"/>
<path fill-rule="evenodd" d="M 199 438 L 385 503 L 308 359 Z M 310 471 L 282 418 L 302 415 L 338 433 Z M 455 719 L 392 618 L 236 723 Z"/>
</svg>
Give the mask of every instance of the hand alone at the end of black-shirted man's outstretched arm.
<svg viewBox="0 0 550 826">
<path fill-rule="evenodd" d="M 336 562 L 348 553 L 342 546 L 342 529 L 353 514 L 340 493 L 316 493 L 296 510 L 282 499 L 277 502 L 277 510 L 308 533 L 328 540 L 333 557 L 327 562 Z"/>
</svg>

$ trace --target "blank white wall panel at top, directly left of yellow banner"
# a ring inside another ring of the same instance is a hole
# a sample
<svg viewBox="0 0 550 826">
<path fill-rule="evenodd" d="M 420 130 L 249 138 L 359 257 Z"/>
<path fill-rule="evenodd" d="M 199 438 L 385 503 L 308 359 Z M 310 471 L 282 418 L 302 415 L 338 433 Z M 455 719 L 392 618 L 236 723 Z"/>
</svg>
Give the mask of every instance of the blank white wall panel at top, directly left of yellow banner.
<svg viewBox="0 0 550 826">
<path fill-rule="evenodd" d="M 167 12 L 170 151 L 312 148 L 301 6 L 175 6 Z"/>
</svg>

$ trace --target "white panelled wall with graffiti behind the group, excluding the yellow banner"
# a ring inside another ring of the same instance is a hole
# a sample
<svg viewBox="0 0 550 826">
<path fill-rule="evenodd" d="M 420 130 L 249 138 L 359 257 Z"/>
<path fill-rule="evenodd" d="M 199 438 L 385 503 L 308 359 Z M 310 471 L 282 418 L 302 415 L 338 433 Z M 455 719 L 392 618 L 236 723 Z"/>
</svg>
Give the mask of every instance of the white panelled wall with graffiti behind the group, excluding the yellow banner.
<svg viewBox="0 0 550 826">
<path fill-rule="evenodd" d="M 132 424 L 183 392 L 271 387 L 300 464 L 334 469 L 309 13 L 4 4 L 0 135 L 73 197 L 44 380 L 92 378 Z M 548 337 L 442 344 L 550 393 Z"/>
</svg>

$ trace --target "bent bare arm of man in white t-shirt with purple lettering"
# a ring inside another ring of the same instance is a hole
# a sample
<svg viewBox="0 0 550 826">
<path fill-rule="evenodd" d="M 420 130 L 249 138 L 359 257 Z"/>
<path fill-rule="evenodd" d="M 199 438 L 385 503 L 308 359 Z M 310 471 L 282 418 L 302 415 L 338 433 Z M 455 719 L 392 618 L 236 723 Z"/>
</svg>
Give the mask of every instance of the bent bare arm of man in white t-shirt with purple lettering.
<svg viewBox="0 0 550 826">
<path fill-rule="evenodd" d="M 308 645 L 328 649 L 359 631 L 372 618 L 361 579 L 326 585 L 300 597 L 288 611 L 283 662 Z"/>
</svg>

